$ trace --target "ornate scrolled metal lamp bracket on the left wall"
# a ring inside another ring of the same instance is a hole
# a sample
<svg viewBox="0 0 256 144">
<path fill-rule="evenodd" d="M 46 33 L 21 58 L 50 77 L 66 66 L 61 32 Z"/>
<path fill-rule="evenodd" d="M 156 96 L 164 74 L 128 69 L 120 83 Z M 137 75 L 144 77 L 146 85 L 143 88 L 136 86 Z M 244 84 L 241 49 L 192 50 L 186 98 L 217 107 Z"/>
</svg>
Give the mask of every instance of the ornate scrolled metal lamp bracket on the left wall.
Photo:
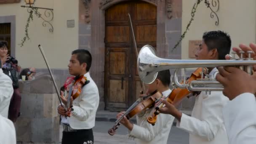
<svg viewBox="0 0 256 144">
<path fill-rule="evenodd" d="M 49 32 L 53 32 L 53 25 L 51 24 L 51 21 L 53 20 L 53 9 L 33 7 L 33 6 L 24 6 L 24 5 L 21 5 L 21 7 L 27 8 L 28 13 L 34 12 L 38 18 L 43 20 L 43 23 L 42 23 L 43 27 L 46 27 L 47 25 L 49 25 L 49 27 L 50 27 Z M 39 11 L 37 11 L 38 9 L 45 10 L 43 16 L 41 13 L 39 13 Z"/>
</svg>

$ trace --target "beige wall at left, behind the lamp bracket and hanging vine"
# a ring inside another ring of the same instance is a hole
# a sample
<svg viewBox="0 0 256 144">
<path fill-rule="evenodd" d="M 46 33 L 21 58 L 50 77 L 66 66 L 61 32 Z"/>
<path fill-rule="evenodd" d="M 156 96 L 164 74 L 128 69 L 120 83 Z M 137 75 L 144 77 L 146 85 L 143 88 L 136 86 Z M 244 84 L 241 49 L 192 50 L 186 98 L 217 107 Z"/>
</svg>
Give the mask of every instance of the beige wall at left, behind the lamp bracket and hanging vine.
<svg viewBox="0 0 256 144">
<path fill-rule="evenodd" d="M 78 48 L 78 3 L 79 0 L 36 0 L 35 6 L 53 8 L 54 18 L 51 21 L 54 32 L 49 27 L 43 27 L 43 20 L 34 17 L 29 25 L 29 37 L 23 47 L 18 45 L 24 37 L 24 28 L 29 13 L 27 8 L 21 8 L 21 3 L 0 5 L 0 16 L 16 16 L 16 58 L 21 67 L 46 68 L 43 57 L 37 47 L 43 46 L 51 68 L 67 68 L 72 50 Z M 44 13 L 44 10 L 39 10 Z M 67 20 L 75 20 L 74 28 L 67 28 Z"/>
</svg>

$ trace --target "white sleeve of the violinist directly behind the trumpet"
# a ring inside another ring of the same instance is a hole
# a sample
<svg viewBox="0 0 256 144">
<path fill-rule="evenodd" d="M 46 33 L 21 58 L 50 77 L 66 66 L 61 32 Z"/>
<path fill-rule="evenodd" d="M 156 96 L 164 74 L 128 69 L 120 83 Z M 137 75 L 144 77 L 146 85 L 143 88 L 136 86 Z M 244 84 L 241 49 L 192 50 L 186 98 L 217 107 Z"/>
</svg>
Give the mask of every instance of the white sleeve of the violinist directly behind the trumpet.
<svg viewBox="0 0 256 144">
<path fill-rule="evenodd" d="M 224 101 L 228 101 L 221 93 L 214 91 L 211 95 L 203 95 L 202 120 L 182 114 L 181 122 L 177 122 L 176 126 L 208 141 L 213 140 L 223 124 L 222 109 L 226 104 Z"/>
</svg>

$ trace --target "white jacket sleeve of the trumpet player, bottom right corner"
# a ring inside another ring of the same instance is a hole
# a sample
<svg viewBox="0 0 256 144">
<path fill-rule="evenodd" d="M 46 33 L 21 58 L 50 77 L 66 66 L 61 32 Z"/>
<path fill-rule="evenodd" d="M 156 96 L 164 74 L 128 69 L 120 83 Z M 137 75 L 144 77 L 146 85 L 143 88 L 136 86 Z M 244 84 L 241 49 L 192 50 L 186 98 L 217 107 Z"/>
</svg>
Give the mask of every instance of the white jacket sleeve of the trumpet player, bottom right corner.
<svg viewBox="0 0 256 144">
<path fill-rule="evenodd" d="M 256 101 L 252 93 L 243 93 L 223 109 L 229 144 L 256 144 Z"/>
</svg>

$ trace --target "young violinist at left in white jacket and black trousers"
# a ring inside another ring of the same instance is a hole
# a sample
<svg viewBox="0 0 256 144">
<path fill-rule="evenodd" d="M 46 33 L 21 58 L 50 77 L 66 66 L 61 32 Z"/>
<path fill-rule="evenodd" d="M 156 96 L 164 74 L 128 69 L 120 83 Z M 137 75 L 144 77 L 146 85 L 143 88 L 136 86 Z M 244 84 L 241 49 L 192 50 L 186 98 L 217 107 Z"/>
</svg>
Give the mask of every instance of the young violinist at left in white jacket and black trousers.
<svg viewBox="0 0 256 144">
<path fill-rule="evenodd" d="M 65 109 L 67 98 L 61 91 L 61 101 L 64 106 L 58 107 L 64 128 L 61 144 L 93 144 L 92 128 L 95 125 L 96 111 L 99 106 L 99 91 L 89 73 L 91 61 L 91 53 L 84 49 L 73 51 L 69 60 L 69 74 L 76 77 L 84 76 L 89 83 L 81 88 L 81 93 L 76 99 L 73 100 L 71 97 L 71 112 Z M 67 113 L 71 116 L 67 117 Z"/>
</svg>

